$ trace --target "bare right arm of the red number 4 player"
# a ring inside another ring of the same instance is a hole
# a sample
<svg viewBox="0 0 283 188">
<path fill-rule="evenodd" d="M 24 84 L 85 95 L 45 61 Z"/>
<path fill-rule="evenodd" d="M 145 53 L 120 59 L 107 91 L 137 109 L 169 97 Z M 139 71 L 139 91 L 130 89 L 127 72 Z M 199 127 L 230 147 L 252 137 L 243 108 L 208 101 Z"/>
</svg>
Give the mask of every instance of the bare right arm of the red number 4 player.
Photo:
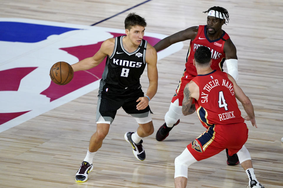
<svg viewBox="0 0 283 188">
<path fill-rule="evenodd" d="M 235 93 L 236 98 L 242 103 L 244 110 L 247 113 L 247 116 L 244 117 L 244 119 L 247 121 L 251 121 L 251 124 L 257 128 L 256 120 L 254 116 L 254 106 L 251 104 L 251 100 L 249 99 L 249 97 L 245 95 L 243 90 L 237 85 L 234 78 L 229 74 L 227 75 L 228 75 L 229 80 L 231 80 L 231 82 L 233 83 L 234 93 Z"/>
</svg>

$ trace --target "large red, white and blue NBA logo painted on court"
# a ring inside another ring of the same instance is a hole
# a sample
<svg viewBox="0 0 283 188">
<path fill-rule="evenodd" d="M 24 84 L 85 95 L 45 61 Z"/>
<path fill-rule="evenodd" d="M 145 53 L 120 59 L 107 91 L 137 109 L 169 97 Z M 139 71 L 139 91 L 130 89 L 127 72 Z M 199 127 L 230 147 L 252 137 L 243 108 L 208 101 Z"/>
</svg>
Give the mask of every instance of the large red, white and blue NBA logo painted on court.
<svg viewBox="0 0 283 188">
<path fill-rule="evenodd" d="M 66 85 L 51 81 L 50 67 L 91 57 L 106 39 L 125 35 L 124 29 L 31 19 L 0 18 L 0 28 L 0 132 L 97 89 L 105 60 L 75 72 Z M 145 33 L 144 39 L 153 46 L 164 37 Z M 176 43 L 158 53 L 158 59 L 182 47 Z"/>
</svg>

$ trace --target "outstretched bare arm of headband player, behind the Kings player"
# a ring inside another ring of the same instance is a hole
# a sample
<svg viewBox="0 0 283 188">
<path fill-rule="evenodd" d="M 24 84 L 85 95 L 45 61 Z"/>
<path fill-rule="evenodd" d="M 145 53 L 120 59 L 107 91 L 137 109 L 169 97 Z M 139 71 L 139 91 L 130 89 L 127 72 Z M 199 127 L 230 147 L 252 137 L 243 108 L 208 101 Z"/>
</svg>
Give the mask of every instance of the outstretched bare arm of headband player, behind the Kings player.
<svg viewBox="0 0 283 188">
<path fill-rule="evenodd" d="M 154 45 L 154 48 L 156 49 L 157 52 L 159 52 L 160 50 L 163 50 L 177 42 L 181 42 L 189 39 L 193 40 L 195 36 L 197 36 L 197 33 L 198 33 L 198 26 L 187 28 L 183 31 L 179 31 L 171 36 L 163 38 L 161 41 L 159 41 L 157 44 Z"/>
</svg>

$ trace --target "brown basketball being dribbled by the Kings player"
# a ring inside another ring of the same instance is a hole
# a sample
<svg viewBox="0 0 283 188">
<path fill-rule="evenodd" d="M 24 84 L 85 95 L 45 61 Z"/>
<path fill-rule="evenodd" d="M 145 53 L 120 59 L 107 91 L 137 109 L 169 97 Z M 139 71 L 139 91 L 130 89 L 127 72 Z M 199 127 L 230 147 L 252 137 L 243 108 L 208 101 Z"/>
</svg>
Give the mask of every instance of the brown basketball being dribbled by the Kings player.
<svg viewBox="0 0 283 188">
<path fill-rule="evenodd" d="M 65 85 L 73 79 L 74 70 L 69 63 L 59 61 L 51 67 L 49 75 L 54 83 Z"/>
</svg>

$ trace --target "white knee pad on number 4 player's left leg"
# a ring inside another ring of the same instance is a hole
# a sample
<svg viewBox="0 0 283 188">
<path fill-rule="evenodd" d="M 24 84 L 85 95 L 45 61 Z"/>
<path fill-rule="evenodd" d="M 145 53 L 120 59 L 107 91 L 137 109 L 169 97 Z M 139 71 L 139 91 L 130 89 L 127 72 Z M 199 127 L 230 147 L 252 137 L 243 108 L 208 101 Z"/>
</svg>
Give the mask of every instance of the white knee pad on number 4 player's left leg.
<svg viewBox="0 0 283 188">
<path fill-rule="evenodd" d="M 185 177 L 188 178 L 188 167 L 197 162 L 194 156 L 190 153 L 188 148 L 186 148 L 181 155 L 175 158 L 175 177 Z"/>
</svg>

